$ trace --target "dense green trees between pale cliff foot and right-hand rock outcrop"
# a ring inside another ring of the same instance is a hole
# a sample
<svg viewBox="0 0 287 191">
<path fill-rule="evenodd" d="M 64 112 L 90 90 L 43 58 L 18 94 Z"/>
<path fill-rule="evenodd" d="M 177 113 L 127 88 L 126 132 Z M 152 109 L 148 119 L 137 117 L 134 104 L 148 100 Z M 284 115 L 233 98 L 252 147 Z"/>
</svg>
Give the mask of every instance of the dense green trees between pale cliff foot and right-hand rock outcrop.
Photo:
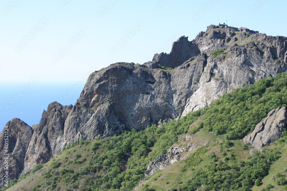
<svg viewBox="0 0 287 191">
<path fill-rule="evenodd" d="M 242 138 L 277 107 L 287 106 L 287 74 L 234 89 L 205 108 L 203 127 L 227 139 Z"/>
</svg>

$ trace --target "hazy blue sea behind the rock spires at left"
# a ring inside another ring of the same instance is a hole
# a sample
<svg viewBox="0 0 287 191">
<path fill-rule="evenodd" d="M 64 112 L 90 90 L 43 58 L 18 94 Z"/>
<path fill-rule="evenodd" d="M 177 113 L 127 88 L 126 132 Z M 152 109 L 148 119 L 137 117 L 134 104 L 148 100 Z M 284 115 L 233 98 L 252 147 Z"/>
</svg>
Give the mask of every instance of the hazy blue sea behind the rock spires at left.
<svg viewBox="0 0 287 191">
<path fill-rule="evenodd" d="M 40 122 L 42 113 L 54 101 L 74 105 L 84 82 L 36 82 L 0 84 L 0 131 L 13 118 L 32 126 Z"/>
</svg>

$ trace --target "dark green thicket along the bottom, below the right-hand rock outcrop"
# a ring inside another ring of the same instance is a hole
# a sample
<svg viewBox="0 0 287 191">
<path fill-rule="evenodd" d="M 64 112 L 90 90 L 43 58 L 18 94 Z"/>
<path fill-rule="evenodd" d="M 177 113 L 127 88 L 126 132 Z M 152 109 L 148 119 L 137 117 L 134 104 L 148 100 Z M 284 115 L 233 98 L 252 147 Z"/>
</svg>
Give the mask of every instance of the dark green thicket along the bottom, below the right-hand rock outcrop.
<svg viewBox="0 0 287 191">
<path fill-rule="evenodd" d="M 191 179 L 178 187 L 182 190 L 196 190 L 204 185 L 204 190 L 250 190 L 250 187 L 259 185 L 268 174 L 270 164 L 277 160 L 279 150 L 271 153 L 255 152 L 248 162 L 238 161 L 228 165 L 228 162 L 210 162 L 205 170 L 197 170 Z"/>
</svg>

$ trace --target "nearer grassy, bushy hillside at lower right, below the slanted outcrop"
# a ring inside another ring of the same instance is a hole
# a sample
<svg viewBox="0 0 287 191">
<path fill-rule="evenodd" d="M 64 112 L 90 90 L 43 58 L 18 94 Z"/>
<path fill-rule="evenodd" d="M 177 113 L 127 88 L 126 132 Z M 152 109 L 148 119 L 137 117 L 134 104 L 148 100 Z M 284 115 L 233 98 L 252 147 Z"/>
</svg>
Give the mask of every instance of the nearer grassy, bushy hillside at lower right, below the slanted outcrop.
<svg viewBox="0 0 287 191">
<path fill-rule="evenodd" d="M 200 131 L 202 131 L 201 133 L 205 132 L 203 129 Z M 200 131 L 195 135 L 198 136 Z M 187 159 L 168 166 L 161 172 L 161 177 L 158 180 L 152 181 L 156 175 L 150 177 L 145 183 L 145 188 L 146 190 L 176 188 L 175 190 L 178 191 L 197 189 L 247 191 L 251 188 L 281 190 L 283 186 L 276 186 L 276 182 L 272 178 L 270 178 L 272 182 L 268 182 L 262 187 L 258 186 L 262 182 L 264 184 L 263 177 L 270 174 L 270 168 L 275 165 L 274 162 L 280 161 L 281 156 L 282 158 L 286 157 L 286 135 L 282 135 L 279 140 L 263 147 L 262 153 L 255 152 L 254 155 L 249 155 L 249 147 L 239 140 L 210 143 L 207 147 L 199 148 L 202 150 L 194 151 Z M 280 164 L 286 166 L 286 162 Z M 280 173 L 283 171 L 281 168 Z M 279 177 L 282 176 L 279 175 Z M 168 185 L 164 184 L 166 181 L 168 181 Z"/>
</svg>

